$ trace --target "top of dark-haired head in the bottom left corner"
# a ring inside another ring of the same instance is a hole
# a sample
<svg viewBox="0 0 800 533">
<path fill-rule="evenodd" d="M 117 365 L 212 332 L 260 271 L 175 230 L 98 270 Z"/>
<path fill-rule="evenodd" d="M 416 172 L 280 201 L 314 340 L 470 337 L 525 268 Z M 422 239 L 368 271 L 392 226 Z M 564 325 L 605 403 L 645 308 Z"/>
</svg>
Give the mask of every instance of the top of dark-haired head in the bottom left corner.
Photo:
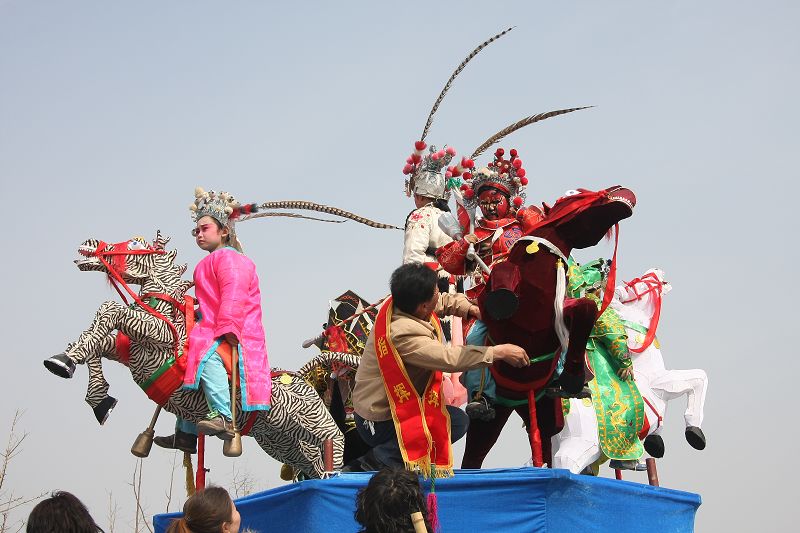
<svg viewBox="0 0 800 533">
<path fill-rule="evenodd" d="M 102 533 L 75 495 L 57 491 L 40 501 L 28 516 L 27 533 Z"/>
</svg>

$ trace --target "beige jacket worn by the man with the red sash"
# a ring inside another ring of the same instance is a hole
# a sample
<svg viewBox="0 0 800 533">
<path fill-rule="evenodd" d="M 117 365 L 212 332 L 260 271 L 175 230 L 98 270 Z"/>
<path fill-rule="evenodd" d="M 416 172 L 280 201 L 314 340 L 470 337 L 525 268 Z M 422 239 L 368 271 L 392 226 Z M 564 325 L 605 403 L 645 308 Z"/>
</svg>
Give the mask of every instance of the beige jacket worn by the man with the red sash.
<svg viewBox="0 0 800 533">
<path fill-rule="evenodd" d="M 442 294 L 436 314 L 467 317 L 471 304 L 463 294 Z M 429 322 L 406 314 L 396 307 L 392 312 L 392 343 L 403 360 L 417 394 L 422 396 L 434 370 L 460 372 L 492 364 L 494 348 L 489 346 L 445 346 Z M 375 354 L 374 329 L 367 339 L 356 372 L 353 407 L 366 420 L 391 420 L 392 411 Z"/>
</svg>

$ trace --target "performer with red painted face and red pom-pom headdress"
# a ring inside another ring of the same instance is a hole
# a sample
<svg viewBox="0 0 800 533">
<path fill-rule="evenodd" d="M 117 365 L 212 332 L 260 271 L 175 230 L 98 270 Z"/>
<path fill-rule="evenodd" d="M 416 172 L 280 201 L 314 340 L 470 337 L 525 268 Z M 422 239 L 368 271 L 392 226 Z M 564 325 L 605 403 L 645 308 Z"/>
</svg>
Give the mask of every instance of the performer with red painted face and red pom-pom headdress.
<svg viewBox="0 0 800 533">
<path fill-rule="evenodd" d="M 504 159 L 504 155 L 505 150 L 498 148 L 494 153 L 494 161 L 487 167 L 463 175 L 463 209 L 459 219 L 462 226 L 474 228 L 461 239 L 440 247 L 436 252 L 442 268 L 451 274 L 471 278 L 473 286 L 467 291 L 467 296 L 472 299 L 483 292 L 488 275 L 477 261 L 467 258 L 470 246 L 474 246 L 476 255 L 491 269 L 494 264 L 504 261 L 514 243 L 544 218 L 539 208 L 523 207 L 528 178 L 525 177 L 517 150 L 509 150 L 508 159 Z M 471 161 L 465 161 L 464 164 L 473 166 Z M 480 207 L 483 216 L 473 223 L 471 220 L 475 218 L 476 207 Z M 465 343 L 486 344 L 486 326 L 483 322 L 474 322 Z M 495 385 L 488 369 L 465 372 L 461 379 L 470 399 L 466 407 L 467 414 L 480 420 L 494 418 Z"/>
</svg>

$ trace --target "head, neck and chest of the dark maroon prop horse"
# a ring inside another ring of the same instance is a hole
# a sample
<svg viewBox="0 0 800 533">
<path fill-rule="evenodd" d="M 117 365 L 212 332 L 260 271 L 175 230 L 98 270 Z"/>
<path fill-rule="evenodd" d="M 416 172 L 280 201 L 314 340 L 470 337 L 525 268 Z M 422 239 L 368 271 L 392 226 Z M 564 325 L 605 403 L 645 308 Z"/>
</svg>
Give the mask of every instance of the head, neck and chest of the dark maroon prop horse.
<svg viewBox="0 0 800 533">
<path fill-rule="evenodd" d="M 573 249 L 597 244 L 619 221 L 630 217 L 635 205 L 633 191 L 620 186 L 598 192 L 585 189 L 569 191 L 552 207 L 545 205 L 545 218 L 516 242 L 507 261 L 493 267 L 488 290 L 479 300 L 492 340 L 498 344 L 518 344 L 525 348 L 532 360 L 559 348 L 568 348 L 565 341 L 571 342 L 572 330 L 577 324 L 567 328 L 569 339 L 560 338 L 558 322 L 562 319 L 570 321 L 570 317 L 565 315 L 570 313 L 567 308 L 559 309 L 559 303 L 565 299 L 566 283 L 565 278 L 559 279 L 559 276 L 565 276 L 565 270 L 559 274 L 559 268 L 566 269 L 566 258 Z M 613 279 L 609 283 L 613 287 Z M 593 309 L 589 313 L 588 335 L 597 310 L 594 303 L 588 300 L 586 303 Z M 565 305 L 570 309 L 576 308 L 575 302 Z M 579 358 L 582 358 L 584 346 L 585 343 L 575 346 Z M 537 385 L 535 388 L 540 388 L 550 378 L 557 359 L 533 363 L 525 369 L 499 362 L 495 364 L 495 370 L 506 378 L 504 382 L 528 385 L 514 387 L 520 391 L 534 384 Z"/>
</svg>

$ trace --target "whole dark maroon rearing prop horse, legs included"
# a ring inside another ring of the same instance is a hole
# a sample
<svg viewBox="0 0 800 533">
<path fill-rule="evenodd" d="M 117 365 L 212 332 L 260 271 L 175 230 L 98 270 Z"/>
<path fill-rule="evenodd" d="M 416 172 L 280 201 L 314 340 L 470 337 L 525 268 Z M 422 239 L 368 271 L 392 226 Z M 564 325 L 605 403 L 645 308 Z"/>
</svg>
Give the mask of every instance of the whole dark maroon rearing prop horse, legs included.
<svg viewBox="0 0 800 533">
<path fill-rule="evenodd" d="M 536 466 L 550 462 L 550 437 L 560 429 L 555 404 L 545 389 L 558 377 L 561 393 L 573 395 L 583 390 L 586 343 L 599 316 L 591 299 L 567 298 L 567 258 L 573 249 L 588 248 L 610 235 L 621 220 L 633 214 L 635 205 L 633 191 L 621 186 L 596 192 L 572 190 L 552 207 L 543 205 L 544 218 L 515 242 L 505 261 L 492 266 L 486 290 L 478 298 L 491 344 L 516 344 L 530 357 L 531 364 L 523 368 L 495 362 L 491 373 L 498 398 L 517 405 L 527 400 L 525 416 L 530 417 Z M 615 261 L 609 275 L 611 287 L 614 268 Z M 504 423 L 505 418 L 488 424 L 501 428 Z M 500 428 L 494 426 L 483 431 L 490 436 L 499 434 Z M 471 425 L 469 431 L 474 437 L 468 434 L 462 467 L 479 468 L 493 442 L 489 442 L 491 437 L 477 435 L 477 425 Z"/>
</svg>

